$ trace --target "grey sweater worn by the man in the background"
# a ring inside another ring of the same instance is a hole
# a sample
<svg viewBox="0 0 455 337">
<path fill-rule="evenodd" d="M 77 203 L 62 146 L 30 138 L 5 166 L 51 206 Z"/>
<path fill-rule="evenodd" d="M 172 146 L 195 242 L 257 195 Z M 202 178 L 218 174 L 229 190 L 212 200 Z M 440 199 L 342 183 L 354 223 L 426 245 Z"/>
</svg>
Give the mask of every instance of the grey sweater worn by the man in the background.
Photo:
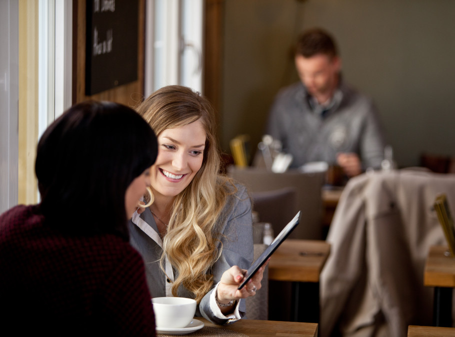
<svg viewBox="0 0 455 337">
<path fill-rule="evenodd" d="M 341 82 L 325 117 L 318 110 L 320 106 L 311 107 L 301 82 L 280 90 L 275 98 L 266 132 L 292 155 L 290 167 L 313 161 L 335 163 L 338 152 L 357 153 L 363 169 L 380 167 L 384 141 L 368 98 Z"/>
</svg>

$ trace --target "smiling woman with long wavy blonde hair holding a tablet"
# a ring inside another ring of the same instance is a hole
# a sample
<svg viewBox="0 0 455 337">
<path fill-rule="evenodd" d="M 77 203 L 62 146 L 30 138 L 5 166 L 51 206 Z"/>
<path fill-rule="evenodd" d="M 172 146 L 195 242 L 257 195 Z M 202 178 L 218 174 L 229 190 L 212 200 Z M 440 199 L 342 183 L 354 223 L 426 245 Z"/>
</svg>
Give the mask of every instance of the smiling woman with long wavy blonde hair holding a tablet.
<svg viewBox="0 0 455 337">
<path fill-rule="evenodd" d="M 218 174 L 213 109 L 174 85 L 137 111 L 158 138 L 147 205 L 129 223 L 151 296 L 193 298 L 196 315 L 219 325 L 236 321 L 245 315 L 242 299 L 260 289 L 262 270 L 237 290 L 253 259 L 251 203 L 243 186 Z"/>
</svg>

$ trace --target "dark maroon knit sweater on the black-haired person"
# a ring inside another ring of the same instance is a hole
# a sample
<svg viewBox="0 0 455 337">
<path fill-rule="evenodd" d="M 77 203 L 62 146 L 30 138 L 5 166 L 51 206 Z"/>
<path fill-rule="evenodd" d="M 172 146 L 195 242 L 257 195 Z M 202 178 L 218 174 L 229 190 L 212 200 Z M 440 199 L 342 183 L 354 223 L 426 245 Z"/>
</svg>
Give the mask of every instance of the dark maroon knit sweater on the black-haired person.
<svg viewBox="0 0 455 337">
<path fill-rule="evenodd" d="M 3 332 L 155 336 L 142 259 L 115 235 L 61 234 L 38 206 L 13 207 L 0 216 L 0 275 Z"/>
</svg>

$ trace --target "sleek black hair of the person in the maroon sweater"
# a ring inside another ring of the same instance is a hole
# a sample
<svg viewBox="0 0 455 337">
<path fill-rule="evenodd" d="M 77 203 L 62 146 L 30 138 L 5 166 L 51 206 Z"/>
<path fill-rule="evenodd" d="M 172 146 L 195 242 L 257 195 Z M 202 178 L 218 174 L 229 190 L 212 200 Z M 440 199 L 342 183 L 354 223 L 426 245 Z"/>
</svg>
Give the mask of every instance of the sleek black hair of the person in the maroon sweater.
<svg viewBox="0 0 455 337">
<path fill-rule="evenodd" d="M 126 235 L 126 189 L 156 154 L 153 131 L 131 108 L 111 102 L 73 105 L 38 143 L 42 213 L 52 226 L 71 233 Z"/>
</svg>

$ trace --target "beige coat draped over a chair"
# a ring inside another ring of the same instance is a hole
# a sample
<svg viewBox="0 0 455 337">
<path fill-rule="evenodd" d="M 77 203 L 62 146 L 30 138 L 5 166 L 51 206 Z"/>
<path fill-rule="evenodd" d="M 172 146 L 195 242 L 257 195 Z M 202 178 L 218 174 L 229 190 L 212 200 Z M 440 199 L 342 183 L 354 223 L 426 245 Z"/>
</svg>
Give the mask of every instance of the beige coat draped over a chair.
<svg viewBox="0 0 455 337">
<path fill-rule="evenodd" d="M 405 337 L 431 325 L 433 290 L 423 286 L 428 249 L 445 244 L 432 207 L 445 193 L 455 211 L 455 175 L 410 170 L 352 178 L 327 236 L 320 336 Z"/>
</svg>

